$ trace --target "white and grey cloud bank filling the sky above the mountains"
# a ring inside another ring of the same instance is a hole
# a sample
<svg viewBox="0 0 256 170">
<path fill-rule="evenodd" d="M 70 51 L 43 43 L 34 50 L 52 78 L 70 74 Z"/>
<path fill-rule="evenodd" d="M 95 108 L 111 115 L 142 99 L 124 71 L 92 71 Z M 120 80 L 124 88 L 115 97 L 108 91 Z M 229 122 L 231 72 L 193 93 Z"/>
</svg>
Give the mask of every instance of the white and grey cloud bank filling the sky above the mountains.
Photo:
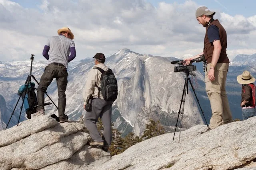
<svg viewBox="0 0 256 170">
<path fill-rule="evenodd" d="M 42 57 L 44 43 L 61 27 L 75 35 L 77 59 L 102 52 L 106 55 L 129 48 L 137 53 L 160 56 L 196 55 L 202 52 L 205 29 L 198 24 L 199 4 L 146 0 L 42 0 L 38 8 L 24 8 L 10 0 L 0 0 L 0 60 Z M 228 34 L 229 56 L 256 53 L 256 16 L 230 16 L 216 11 Z M 241 49 L 241 50 L 239 50 Z M 253 52 L 254 51 L 254 52 Z"/>
</svg>

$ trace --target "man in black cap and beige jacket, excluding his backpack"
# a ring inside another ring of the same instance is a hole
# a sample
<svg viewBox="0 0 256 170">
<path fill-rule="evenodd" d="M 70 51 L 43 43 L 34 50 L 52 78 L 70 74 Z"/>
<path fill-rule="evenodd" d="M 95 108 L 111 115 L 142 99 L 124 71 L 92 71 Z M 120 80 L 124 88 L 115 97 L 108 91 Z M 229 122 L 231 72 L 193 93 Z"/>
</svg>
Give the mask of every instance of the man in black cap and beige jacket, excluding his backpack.
<svg viewBox="0 0 256 170">
<path fill-rule="evenodd" d="M 88 78 L 86 80 L 86 85 L 83 91 L 84 108 L 86 108 L 86 104 L 89 103 L 89 100 L 92 100 L 92 109 L 91 111 L 86 111 L 84 116 L 84 124 L 93 139 L 93 141 L 89 143 L 90 146 L 98 146 L 107 151 L 112 141 L 111 113 L 113 102 L 105 101 L 102 96 L 102 92 L 100 91 L 100 78 L 102 72 L 98 70 L 98 68 L 106 71 L 108 70 L 108 67 L 104 64 L 104 54 L 97 53 L 92 58 L 94 58 L 95 65 L 88 73 Z M 102 137 L 96 127 L 96 122 L 98 121 L 99 117 L 102 120 L 104 128 Z"/>
</svg>

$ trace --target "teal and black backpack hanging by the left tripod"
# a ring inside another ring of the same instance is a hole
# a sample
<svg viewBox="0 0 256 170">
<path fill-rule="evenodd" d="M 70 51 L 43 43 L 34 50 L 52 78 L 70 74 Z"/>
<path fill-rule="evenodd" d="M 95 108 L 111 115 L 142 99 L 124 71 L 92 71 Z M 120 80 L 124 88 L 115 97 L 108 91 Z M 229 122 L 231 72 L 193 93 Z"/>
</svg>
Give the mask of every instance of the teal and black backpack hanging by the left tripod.
<svg viewBox="0 0 256 170">
<path fill-rule="evenodd" d="M 31 114 L 36 113 L 36 107 L 38 105 L 35 89 L 36 88 L 34 82 L 30 82 L 28 83 L 28 89 L 26 94 L 26 84 L 20 86 L 18 90 L 18 95 L 22 97 L 22 100 L 24 100 L 24 109 L 26 111 L 28 119 L 31 118 Z"/>
</svg>

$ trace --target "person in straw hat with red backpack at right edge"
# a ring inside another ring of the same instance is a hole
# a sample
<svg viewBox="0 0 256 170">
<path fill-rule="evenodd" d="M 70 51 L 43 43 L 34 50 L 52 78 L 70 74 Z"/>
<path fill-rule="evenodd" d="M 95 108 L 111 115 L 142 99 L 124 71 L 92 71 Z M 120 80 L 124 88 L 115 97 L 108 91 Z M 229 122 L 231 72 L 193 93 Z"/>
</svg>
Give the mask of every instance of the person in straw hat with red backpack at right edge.
<svg viewBox="0 0 256 170">
<path fill-rule="evenodd" d="M 255 78 L 251 76 L 250 72 L 244 71 L 243 74 L 236 78 L 239 84 L 242 84 L 242 100 L 240 106 L 242 107 L 243 120 L 256 115 L 255 110 Z"/>
</svg>

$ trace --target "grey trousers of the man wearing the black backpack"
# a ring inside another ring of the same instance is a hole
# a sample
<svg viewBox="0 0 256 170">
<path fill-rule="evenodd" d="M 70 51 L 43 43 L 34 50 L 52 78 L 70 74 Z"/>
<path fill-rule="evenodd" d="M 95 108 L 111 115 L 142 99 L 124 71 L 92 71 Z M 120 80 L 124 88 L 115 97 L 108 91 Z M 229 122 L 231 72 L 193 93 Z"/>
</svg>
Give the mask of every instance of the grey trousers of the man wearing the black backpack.
<svg viewBox="0 0 256 170">
<path fill-rule="evenodd" d="M 105 101 L 100 98 L 92 100 L 92 111 L 86 111 L 84 115 L 84 124 L 88 129 L 90 136 L 95 142 L 104 142 L 105 146 L 111 145 L 112 131 L 111 131 L 111 113 L 113 102 Z M 96 122 L 100 117 L 103 124 L 103 136 L 101 137 Z"/>
</svg>

